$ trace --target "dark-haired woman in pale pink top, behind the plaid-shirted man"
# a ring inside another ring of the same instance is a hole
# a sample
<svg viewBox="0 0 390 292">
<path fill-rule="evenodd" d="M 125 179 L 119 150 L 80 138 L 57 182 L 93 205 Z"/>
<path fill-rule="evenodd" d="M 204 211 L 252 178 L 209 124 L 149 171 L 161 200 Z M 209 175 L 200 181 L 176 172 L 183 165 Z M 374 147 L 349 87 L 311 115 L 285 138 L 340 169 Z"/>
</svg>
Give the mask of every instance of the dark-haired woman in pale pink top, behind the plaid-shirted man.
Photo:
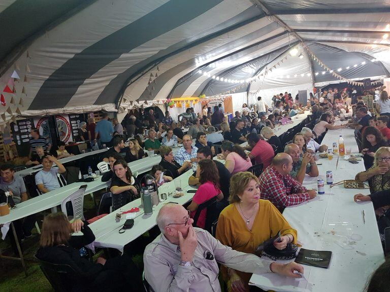
<svg viewBox="0 0 390 292">
<path fill-rule="evenodd" d="M 252 162 L 245 153 L 244 148 L 238 144 L 226 141 L 221 145 L 221 152 L 222 154 L 218 155 L 218 159 L 225 160 L 225 167 L 231 174 L 247 171 L 252 166 Z"/>
</svg>

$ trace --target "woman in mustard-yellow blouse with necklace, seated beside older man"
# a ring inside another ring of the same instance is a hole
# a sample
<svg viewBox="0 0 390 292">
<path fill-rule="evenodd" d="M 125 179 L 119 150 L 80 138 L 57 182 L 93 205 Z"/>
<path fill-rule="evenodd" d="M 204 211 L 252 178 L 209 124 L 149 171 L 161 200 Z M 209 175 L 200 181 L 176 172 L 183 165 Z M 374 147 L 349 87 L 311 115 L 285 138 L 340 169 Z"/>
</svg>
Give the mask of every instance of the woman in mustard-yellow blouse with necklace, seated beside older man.
<svg viewBox="0 0 390 292">
<path fill-rule="evenodd" d="M 260 199 L 258 179 L 252 173 L 239 172 L 230 180 L 230 205 L 218 218 L 216 238 L 234 250 L 254 253 L 256 247 L 280 231 L 281 242 L 274 243 L 284 249 L 287 243 L 297 241 L 297 231 L 292 229 L 278 209 L 268 200 Z M 249 291 L 252 274 L 222 267 L 222 276 L 228 291 Z"/>
</svg>

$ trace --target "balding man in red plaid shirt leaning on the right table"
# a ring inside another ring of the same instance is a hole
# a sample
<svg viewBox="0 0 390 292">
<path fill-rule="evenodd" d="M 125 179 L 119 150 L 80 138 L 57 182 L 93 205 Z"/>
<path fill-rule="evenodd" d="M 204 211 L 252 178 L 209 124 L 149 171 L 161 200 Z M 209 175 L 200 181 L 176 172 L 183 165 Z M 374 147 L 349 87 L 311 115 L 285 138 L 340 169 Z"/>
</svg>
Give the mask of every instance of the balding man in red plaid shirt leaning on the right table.
<svg viewBox="0 0 390 292">
<path fill-rule="evenodd" d="M 286 153 L 277 154 L 272 164 L 259 177 L 260 197 L 270 200 L 279 210 L 298 205 L 315 197 L 315 190 L 307 190 L 289 173 L 293 159 Z"/>
</svg>

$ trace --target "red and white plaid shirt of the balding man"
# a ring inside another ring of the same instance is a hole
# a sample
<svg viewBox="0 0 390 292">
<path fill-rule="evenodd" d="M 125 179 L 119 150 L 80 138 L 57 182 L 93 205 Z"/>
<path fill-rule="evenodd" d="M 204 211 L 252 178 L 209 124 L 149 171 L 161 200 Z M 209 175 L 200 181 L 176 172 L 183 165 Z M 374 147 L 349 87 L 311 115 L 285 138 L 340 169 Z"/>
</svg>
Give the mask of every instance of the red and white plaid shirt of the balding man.
<svg viewBox="0 0 390 292">
<path fill-rule="evenodd" d="M 260 198 L 269 200 L 278 209 L 301 204 L 309 200 L 309 194 L 304 186 L 289 174 L 282 175 L 272 165 L 260 175 Z"/>
</svg>

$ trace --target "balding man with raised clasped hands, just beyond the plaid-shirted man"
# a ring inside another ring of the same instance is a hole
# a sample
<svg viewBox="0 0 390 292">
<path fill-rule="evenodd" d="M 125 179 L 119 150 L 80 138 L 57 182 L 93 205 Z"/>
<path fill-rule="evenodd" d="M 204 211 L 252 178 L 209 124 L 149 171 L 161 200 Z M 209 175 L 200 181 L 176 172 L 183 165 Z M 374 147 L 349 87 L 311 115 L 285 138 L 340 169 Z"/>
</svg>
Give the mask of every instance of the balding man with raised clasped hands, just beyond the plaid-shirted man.
<svg viewBox="0 0 390 292">
<path fill-rule="evenodd" d="M 284 153 L 293 159 L 293 169 L 290 171 L 290 176 L 298 180 L 300 184 L 303 183 L 306 173 L 310 176 L 318 176 L 318 167 L 312 154 L 306 152 L 301 157 L 299 147 L 294 143 L 287 144 L 284 147 Z"/>
</svg>

